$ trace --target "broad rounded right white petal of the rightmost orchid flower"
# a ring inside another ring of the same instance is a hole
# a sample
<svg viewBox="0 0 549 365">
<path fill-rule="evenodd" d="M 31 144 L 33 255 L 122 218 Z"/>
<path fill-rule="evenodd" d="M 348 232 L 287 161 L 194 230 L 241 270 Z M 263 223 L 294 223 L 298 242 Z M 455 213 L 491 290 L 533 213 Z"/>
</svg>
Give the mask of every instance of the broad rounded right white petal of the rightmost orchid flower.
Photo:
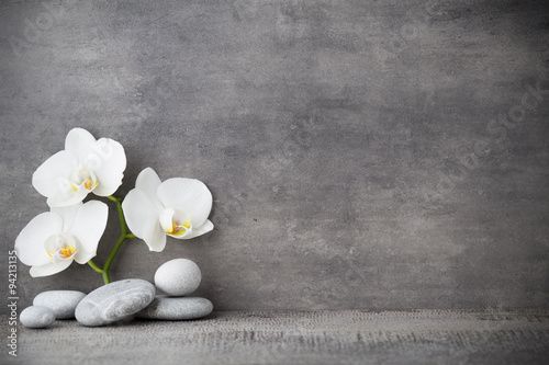
<svg viewBox="0 0 549 365">
<path fill-rule="evenodd" d="M 158 186 L 158 198 L 166 207 L 188 212 L 192 226 L 202 226 L 212 210 L 212 193 L 200 180 L 173 178 Z"/>
</svg>

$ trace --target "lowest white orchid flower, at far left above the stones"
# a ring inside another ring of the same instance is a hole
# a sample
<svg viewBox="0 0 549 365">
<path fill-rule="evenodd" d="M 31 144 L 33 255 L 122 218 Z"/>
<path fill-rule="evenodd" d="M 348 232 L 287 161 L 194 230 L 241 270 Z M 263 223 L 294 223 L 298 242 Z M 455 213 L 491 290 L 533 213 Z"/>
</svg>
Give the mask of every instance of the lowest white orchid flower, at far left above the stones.
<svg viewBox="0 0 549 365">
<path fill-rule="evenodd" d="M 97 254 L 107 226 L 107 204 L 91 201 L 52 208 L 34 217 L 15 239 L 15 252 L 31 276 L 47 276 L 72 261 L 85 264 Z"/>
</svg>

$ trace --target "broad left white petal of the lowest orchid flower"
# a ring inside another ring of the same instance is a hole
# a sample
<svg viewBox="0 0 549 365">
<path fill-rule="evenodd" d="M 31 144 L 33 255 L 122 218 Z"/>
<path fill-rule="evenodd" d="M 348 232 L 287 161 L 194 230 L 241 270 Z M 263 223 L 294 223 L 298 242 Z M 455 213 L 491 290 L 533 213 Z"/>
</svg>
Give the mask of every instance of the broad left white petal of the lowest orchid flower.
<svg viewBox="0 0 549 365">
<path fill-rule="evenodd" d="M 34 217 L 21 230 L 15 239 L 15 252 L 25 265 L 42 265 L 49 262 L 49 255 L 44 250 L 48 237 L 63 231 L 63 218 L 56 213 L 46 212 Z"/>
</svg>

